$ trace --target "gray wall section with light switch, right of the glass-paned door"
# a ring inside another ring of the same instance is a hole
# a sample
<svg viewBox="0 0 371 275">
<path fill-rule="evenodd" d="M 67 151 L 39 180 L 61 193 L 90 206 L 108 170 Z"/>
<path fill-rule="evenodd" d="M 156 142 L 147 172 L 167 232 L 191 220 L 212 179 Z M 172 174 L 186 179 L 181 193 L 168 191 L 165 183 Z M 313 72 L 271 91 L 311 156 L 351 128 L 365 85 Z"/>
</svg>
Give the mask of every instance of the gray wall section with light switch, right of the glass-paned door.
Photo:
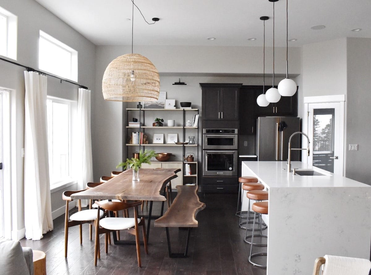
<svg viewBox="0 0 371 275">
<path fill-rule="evenodd" d="M 371 185 L 371 39 L 347 39 L 346 176 Z M 358 144 L 358 151 L 348 151 Z"/>
</svg>

